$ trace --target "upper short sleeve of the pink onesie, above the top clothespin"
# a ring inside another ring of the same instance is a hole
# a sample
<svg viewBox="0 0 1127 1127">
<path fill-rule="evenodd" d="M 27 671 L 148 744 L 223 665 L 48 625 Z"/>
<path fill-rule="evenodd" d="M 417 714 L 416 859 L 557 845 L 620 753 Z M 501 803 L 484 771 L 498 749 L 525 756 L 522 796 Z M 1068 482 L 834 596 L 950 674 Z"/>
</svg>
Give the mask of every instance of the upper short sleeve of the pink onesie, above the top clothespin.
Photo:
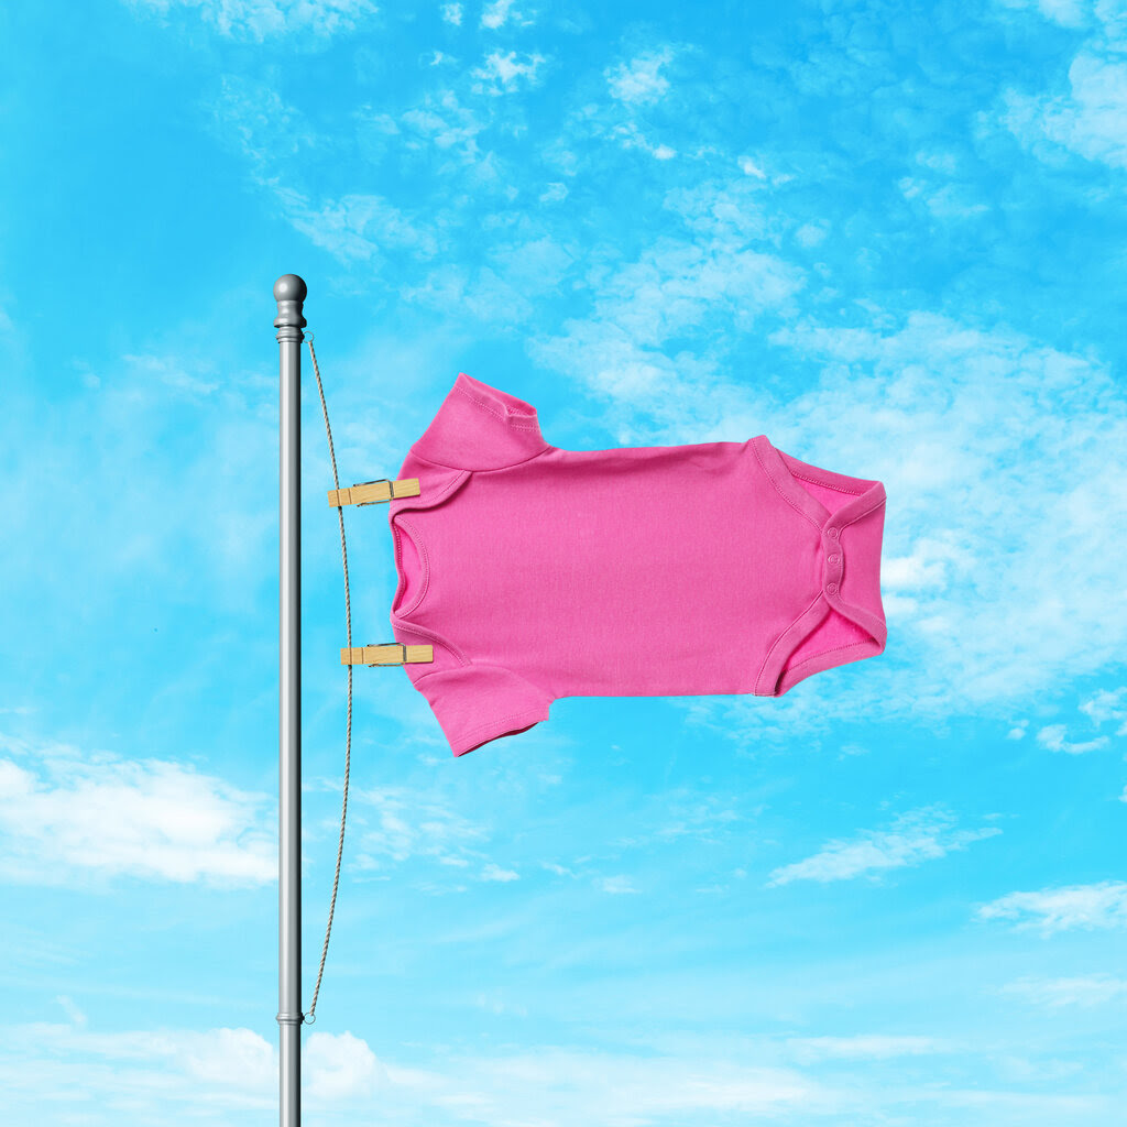
<svg viewBox="0 0 1127 1127">
<path fill-rule="evenodd" d="M 464 372 L 411 446 L 419 458 L 462 470 L 502 469 L 552 449 L 535 407 Z"/>
</svg>

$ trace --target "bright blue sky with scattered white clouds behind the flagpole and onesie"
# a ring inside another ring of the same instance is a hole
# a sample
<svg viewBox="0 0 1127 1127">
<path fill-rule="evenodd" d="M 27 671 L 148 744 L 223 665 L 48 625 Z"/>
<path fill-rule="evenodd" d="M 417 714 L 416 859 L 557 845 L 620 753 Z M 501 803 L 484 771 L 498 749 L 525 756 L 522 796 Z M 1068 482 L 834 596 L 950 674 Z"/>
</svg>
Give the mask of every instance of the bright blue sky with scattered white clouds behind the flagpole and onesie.
<svg viewBox="0 0 1127 1127">
<path fill-rule="evenodd" d="M 464 371 L 562 449 L 764 433 L 888 494 L 886 651 L 784 698 L 565 699 L 455 760 L 357 672 L 305 1122 L 1122 1121 L 1122 5 L 54 0 L 0 53 L 8 1122 L 276 1115 L 290 270 L 346 482 Z M 385 640 L 385 511 L 346 520 Z"/>
</svg>

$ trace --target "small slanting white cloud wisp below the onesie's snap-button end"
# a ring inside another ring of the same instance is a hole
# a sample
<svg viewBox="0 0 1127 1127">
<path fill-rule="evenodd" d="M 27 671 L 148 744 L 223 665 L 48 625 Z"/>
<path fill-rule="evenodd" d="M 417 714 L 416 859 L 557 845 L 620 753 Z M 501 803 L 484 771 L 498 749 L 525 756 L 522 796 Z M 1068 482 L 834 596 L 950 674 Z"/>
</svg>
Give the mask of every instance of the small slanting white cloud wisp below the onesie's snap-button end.
<svg viewBox="0 0 1127 1127">
<path fill-rule="evenodd" d="M 955 829 L 955 817 L 930 806 L 902 814 L 887 829 L 863 831 L 854 838 L 827 842 L 817 853 L 773 870 L 767 887 L 791 880 L 849 880 L 862 873 L 920 864 L 964 850 L 1002 831 Z"/>
</svg>

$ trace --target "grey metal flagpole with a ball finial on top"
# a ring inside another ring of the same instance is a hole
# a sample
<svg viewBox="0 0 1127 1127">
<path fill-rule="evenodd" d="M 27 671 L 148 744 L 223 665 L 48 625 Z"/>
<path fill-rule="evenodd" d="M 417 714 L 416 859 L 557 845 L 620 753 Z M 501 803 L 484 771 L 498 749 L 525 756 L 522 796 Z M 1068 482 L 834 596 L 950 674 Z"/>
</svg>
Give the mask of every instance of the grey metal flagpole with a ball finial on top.
<svg viewBox="0 0 1127 1127">
<path fill-rule="evenodd" d="M 274 283 L 279 348 L 278 1013 L 282 1127 L 301 1124 L 301 343 L 305 283 Z"/>
</svg>

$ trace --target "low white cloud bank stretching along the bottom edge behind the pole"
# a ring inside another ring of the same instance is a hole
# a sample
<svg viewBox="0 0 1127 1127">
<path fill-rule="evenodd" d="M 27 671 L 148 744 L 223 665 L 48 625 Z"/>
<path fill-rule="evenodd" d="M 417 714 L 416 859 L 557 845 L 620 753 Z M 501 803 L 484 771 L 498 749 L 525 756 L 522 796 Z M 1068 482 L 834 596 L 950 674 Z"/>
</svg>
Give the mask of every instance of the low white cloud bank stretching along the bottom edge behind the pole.
<svg viewBox="0 0 1127 1127">
<path fill-rule="evenodd" d="M 523 1006 L 481 992 L 468 1004 L 506 1019 Z M 526 1040 L 526 1039 L 525 1039 Z M 815 1118 L 860 1122 L 919 1117 L 921 1107 L 971 1107 L 994 1124 L 1110 1122 L 1113 1099 L 1012 1084 L 995 1090 L 990 1079 L 975 1086 L 942 1083 L 921 1088 L 909 1076 L 857 1073 L 857 1062 L 897 1061 L 976 1046 L 948 1046 L 925 1036 L 868 1033 L 852 1037 L 722 1038 L 673 1037 L 675 1050 L 658 1045 L 625 1050 L 527 1044 L 489 1055 L 456 1047 L 411 1046 L 417 1057 L 431 1050 L 432 1066 L 378 1057 L 360 1035 L 310 1032 L 303 1053 L 303 1086 L 319 1111 L 370 1118 L 378 1106 L 389 1124 L 472 1120 L 482 1124 L 578 1124 L 640 1127 L 654 1122 L 731 1119 L 739 1122 L 807 1124 Z M 645 1038 L 642 1039 L 645 1042 Z M 16 1122 L 41 1121 L 54 1110 L 57 1093 L 81 1092 L 107 1111 L 98 1124 L 121 1121 L 121 1109 L 145 1121 L 180 1121 L 186 1112 L 238 1119 L 265 1116 L 277 1106 L 277 1050 L 260 1032 L 246 1028 L 204 1031 L 128 1030 L 99 1033 L 45 1022 L 0 1027 L 0 1089 L 6 1113 Z M 991 1046 L 987 1058 L 997 1056 Z M 787 1064 L 787 1058 L 825 1063 L 826 1082 Z M 975 1051 L 976 1059 L 982 1053 Z M 777 1063 L 781 1062 L 781 1063 Z M 909 1064 L 911 1062 L 905 1062 Z M 1014 1072 L 1012 1056 L 1002 1067 Z M 1051 1062 L 1048 1062 L 1051 1064 Z M 961 1062 L 960 1062 L 961 1065 Z M 900 1064 L 895 1065 L 902 1067 Z M 1058 1073 L 1057 1075 L 1065 1075 Z M 961 1070 L 960 1070 L 961 1075 Z M 1031 1072 L 1027 1079 L 1038 1075 Z M 1102 1116 L 1102 1118 L 1101 1118 Z M 913 1120 L 914 1121 L 914 1120 Z"/>
</svg>

